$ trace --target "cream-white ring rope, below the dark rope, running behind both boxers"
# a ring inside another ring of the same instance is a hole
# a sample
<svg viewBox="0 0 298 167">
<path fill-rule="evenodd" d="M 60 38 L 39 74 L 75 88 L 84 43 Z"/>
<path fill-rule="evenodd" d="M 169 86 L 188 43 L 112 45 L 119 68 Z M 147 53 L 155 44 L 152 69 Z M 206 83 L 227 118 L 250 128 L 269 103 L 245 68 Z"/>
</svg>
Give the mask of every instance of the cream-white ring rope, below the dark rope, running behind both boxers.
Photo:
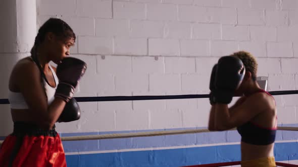
<svg viewBox="0 0 298 167">
<path fill-rule="evenodd" d="M 278 127 L 278 130 L 298 131 L 298 127 Z M 230 129 L 236 130 L 236 128 Z M 129 137 L 147 137 L 147 136 L 162 136 L 174 134 L 187 134 L 187 133 L 203 133 L 203 132 L 216 132 L 208 129 L 188 129 L 188 130 L 166 130 L 166 131 L 152 131 L 152 132 L 134 132 L 134 133 L 113 133 L 113 134 L 100 134 L 100 135 L 86 135 L 86 136 L 70 136 L 61 137 L 62 141 L 76 141 L 76 140 L 100 140 L 100 139 L 113 139 L 113 138 L 129 138 Z M 2 144 L 3 141 L 0 141 Z"/>
</svg>

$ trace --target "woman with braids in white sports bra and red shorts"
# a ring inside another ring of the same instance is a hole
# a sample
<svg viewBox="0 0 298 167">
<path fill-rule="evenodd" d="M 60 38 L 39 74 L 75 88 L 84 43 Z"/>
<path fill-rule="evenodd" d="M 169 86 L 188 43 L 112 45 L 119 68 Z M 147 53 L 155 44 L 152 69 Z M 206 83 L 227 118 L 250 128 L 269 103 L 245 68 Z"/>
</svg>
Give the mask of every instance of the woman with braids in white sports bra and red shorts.
<svg viewBox="0 0 298 167">
<path fill-rule="evenodd" d="M 80 117 L 72 97 L 86 64 L 68 57 L 75 40 L 67 23 L 48 19 L 38 30 L 31 56 L 14 66 L 9 80 L 14 130 L 1 145 L 0 166 L 66 166 L 55 123 Z"/>
</svg>

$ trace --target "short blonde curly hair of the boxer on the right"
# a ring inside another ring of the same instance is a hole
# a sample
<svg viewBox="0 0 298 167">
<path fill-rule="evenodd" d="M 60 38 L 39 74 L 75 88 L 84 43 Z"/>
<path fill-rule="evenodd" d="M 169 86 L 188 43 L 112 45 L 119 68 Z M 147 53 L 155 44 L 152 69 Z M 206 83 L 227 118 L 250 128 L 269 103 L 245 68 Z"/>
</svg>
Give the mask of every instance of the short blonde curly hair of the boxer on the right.
<svg viewBox="0 0 298 167">
<path fill-rule="evenodd" d="M 241 59 L 241 61 L 244 64 L 245 70 L 250 71 L 252 73 L 252 79 L 257 79 L 258 63 L 256 58 L 250 52 L 242 50 L 233 53 L 231 56 L 235 56 Z"/>
</svg>

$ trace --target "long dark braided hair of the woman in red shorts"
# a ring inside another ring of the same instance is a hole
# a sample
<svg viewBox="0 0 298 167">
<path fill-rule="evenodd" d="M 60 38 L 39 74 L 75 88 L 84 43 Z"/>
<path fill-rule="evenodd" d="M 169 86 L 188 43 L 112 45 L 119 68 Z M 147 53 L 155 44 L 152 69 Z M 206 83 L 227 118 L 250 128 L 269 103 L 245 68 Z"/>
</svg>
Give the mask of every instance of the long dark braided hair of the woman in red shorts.
<svg viewBox="0 0 298 167">
<path fill-rule="evenodd" d="M 37 49 L 40 46 L 40 44 L 44 41 L 46 33 L 48 32 L 52 32 L 53 34 L 55 34 L 58 37 L 61 38 L 72 38 L 74 41 L 76 39 L 76 35 L 73 32 L 72 28 L 63 20 L 58 19 L 58 18 L 50 18 L 48 19 L 38 30 L 38 33 L 35 37 L 35 41 L 34 41 L 34 45 L 30 51 L 31 53 L 31 58 L 32 60 L 36 63 L 36 65 L 38 66 L 39 70 L 40 70 L 40 79 L 41 79 L 41 84 L 43 86 L 43 90 L 45 93 L 45 89 L 44 89 L 44 82 L 42 79 L 45 79 L 45 81 L 48 83 L 45 74 L 43 73 L 43 70 L 41 68 L 41 65 L 38 61 L 37 58 Z M 46 93 L 45 93 L 46 95 Z M 46 96 L 47 98 L 47 96 Z"/>
</svg>

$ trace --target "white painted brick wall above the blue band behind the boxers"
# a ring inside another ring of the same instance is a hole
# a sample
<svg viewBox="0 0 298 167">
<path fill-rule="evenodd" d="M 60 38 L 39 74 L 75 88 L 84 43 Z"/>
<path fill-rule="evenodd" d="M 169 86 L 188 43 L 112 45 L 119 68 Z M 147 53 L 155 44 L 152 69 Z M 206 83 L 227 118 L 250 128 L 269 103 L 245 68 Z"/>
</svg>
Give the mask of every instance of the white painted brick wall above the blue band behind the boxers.
<svg viewBox="0 0 298 167">
<path fill-rule="evenodd" d="M 238 50 L 257 57 L 258 76 L 269 76 L 270 91 L 298 88 L 294 0 L 39 0 L 37 4 L 39 26 L 58 17 L 77 35 L 71 53 L 88 68 L 76 96 L 208 94 L 213 65 L 220 56 Z M 279 123 L 297 123 L 296 99 L 275 96 Z M 210 110 L 208 99 L 81 104 L 82 118 L 61 126 L 62 132 L 206 127 Z"/>
</svg>

